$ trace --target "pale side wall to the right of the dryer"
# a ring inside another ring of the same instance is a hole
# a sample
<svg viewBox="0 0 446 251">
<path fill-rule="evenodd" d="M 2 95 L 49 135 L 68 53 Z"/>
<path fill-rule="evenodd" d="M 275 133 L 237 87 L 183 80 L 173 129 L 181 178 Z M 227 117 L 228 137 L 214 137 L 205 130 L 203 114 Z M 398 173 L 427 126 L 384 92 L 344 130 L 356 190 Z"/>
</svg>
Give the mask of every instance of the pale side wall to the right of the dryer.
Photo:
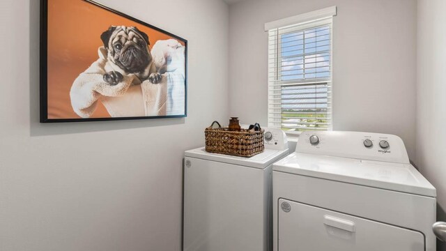
<svg viewBox="0 0 446 251">
<path fill-rule="evenodd" d="M 417 158 L 437 188 L 438 219 L 446 221 L 446 1 L 418 1 Z M 446 245 L 443 243 L 443 249 Z"/>
</svg>

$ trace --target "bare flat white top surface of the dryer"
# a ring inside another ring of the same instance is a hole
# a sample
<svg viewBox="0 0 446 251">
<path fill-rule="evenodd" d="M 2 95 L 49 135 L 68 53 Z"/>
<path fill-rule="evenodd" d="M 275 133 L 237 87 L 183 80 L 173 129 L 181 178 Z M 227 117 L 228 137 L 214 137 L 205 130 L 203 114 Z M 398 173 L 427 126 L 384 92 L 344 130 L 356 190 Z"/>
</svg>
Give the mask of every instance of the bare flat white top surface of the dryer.
<svg viewBox="0 0 446 251">
<path fill-rule="evenodd" d="M 410 164 L 292 153 L 273 170 L 436 197 L 436 189 Z"/>
</svg>

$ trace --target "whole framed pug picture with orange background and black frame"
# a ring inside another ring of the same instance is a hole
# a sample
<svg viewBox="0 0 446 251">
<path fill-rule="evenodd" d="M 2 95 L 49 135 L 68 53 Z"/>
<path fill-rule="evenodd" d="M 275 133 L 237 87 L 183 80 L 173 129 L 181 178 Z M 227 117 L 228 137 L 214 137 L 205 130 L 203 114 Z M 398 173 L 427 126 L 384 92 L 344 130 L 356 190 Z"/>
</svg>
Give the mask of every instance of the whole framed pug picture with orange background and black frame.
<svg viewBox="0 0 446 251">
<path fill-rule="evenodd" d="M 40 5 L 40 122 L 186 116 L 187 40 L 91 0 Z"/>
</svg>

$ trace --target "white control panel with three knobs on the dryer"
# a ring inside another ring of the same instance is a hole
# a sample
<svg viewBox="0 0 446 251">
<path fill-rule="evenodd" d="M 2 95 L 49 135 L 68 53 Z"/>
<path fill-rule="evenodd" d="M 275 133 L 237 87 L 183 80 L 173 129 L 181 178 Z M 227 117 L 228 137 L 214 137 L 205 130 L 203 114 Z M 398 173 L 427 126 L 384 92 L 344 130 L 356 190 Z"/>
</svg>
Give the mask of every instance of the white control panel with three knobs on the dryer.
<svg viewBox="0 0 446 251">
<path fill-rule="evenodd" d="M 409 164 L 406 147 L 400 137 L 373 132 L 302 132 L 295 151 Z"/>
</svg>

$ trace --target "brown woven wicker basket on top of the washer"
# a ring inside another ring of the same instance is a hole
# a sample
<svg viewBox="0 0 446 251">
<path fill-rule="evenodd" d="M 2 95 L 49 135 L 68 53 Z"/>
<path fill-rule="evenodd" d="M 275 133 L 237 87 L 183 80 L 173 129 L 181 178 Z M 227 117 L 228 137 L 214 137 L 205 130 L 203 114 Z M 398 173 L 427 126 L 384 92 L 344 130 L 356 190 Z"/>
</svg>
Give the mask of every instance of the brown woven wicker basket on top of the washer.
<svg viewBox="0 0 446 251">
<path fill-rule="evenodd" d="M 236 155 L 242 157 L 251 157 L 263 152 L 263 132 L 241 129 L 239 131 L 230 131 L 229 128 L 213 128 L 214 123 L 220 126 L 220 123 L 214 121 L 210 127 L 204 130 L 206 136 L 206 151 L 210 153 L 222 153 L 227 155 Z"/>
</svg>

